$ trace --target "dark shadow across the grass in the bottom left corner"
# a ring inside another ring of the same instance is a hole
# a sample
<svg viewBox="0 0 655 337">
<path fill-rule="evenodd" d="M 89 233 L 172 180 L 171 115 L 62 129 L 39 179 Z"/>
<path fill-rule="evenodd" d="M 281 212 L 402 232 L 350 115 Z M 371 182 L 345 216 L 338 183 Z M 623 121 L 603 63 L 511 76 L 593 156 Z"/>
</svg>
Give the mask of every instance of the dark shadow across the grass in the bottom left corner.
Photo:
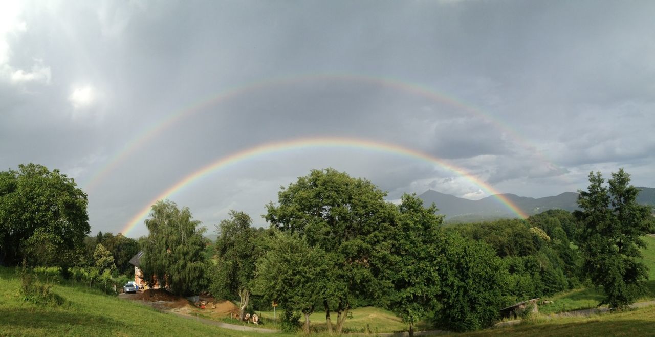
<svg viewBox="0 0 655 337">
<path fill-rule="evenodd" d="M 8 327 L 10 331 L 15 330 L 16 332 L 35 328 L 60 330 L 60 327 L 64 326 L 90 327 L 100 329 L 99 331 L 103 332 L 111 332 L 122 327 L 122 322 L 109 319 L 102 315 L 80 314 L 67 311 L 0 309 L 0 317 L 2 317 L 0 328 Z"/>
</svg>

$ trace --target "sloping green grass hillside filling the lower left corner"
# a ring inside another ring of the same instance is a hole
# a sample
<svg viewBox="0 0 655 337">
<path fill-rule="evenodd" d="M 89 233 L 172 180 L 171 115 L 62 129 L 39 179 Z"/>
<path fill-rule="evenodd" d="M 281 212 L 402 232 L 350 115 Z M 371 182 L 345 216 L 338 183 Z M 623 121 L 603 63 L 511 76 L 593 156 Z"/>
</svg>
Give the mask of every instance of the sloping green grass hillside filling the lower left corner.
<svg viewBox="0 0 655 337">
<path fill-rule="evenodd" d="M 57 285 L 59 308 L 24 302 L 12 268 L 0 267 L 0 336 L 261 336 L 159 313 L 83 286 Z"/>
</svg>

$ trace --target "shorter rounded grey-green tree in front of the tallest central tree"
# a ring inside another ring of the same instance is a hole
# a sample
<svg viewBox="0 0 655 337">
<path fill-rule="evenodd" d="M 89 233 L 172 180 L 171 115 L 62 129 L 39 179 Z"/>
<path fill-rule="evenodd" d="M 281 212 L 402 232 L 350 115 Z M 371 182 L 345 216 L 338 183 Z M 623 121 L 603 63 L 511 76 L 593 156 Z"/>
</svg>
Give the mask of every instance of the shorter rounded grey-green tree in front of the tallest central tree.
<svg viewBox="0 0 655 337">
<path fill-rule="evenodd" d="M 326 252 L 310 247 L 297 234 L 277 232 L 267 253 L 257 261 L 255 292 L 278 302 L 285 311 L 303 313 L 305 334 L 309 334 L 309 316 L 324 296 L 324 276 L 332 267 L 329 262 L 333 260 L 326 258 Z"/>
</svg>

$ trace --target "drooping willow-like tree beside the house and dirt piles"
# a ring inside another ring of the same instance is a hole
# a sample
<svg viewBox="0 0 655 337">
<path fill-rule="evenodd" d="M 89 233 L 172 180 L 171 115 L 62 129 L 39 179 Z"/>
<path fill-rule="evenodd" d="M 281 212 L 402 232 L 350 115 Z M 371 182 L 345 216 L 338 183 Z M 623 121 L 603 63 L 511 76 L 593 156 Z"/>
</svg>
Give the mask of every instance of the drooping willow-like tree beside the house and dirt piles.
<svg viewBox="0 0 655 337">
<path fill-rule="evenodd" d="M 197 294 L 204 286 L 206 239 L 200 221 L 188 207 L 159 201 L 145 220 L 149 236 L 143 242 L 141 270 L 152 286 L 155 281 L 179 295 Z"/>
</svg>

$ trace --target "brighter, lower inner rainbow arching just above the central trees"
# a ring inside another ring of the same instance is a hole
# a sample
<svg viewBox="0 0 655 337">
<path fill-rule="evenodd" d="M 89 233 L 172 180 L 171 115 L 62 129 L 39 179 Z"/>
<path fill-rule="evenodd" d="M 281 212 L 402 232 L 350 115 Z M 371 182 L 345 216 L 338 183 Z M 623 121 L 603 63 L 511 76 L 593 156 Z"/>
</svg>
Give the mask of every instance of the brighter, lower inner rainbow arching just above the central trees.
<svg viewBox="0 0 655 337">
<path fill-rule="evenodd" d="M 499 200 L 502 204 L 504 204 L 512 213 L 514 213 L 518 217 L 524 219 L 527 217 L 527 215 L 523 211 L 521 211 L 519 207 L 514 205 L 512 201 L 508 200 L 506 196 L 496 191 L 491 185 L 485 183 L 484 181 L 481 181 L 480 179 L 478 179 L 471 173 L 466 172 L 462 168 L 457 168 L 456 166 L 453 166 L 452 164 L 448 164 L 447 162 L 445 162 L 440 158 L 430 156 L 429 154 L 426 154 L 424 152 L 408 149 L 400 145 L 383 143 L 380 141 L 371 141 L 367 139 L 346 138 L 346 137 L 312 137 L 312 138 L 290 139 L 286 141 L 277 141 L 274 143 L 265 143 L 265 144 L 257 145 L 255 147 L 251 147 L 249 149 L 245 149 L 243 151 L 230 154 L 228 156 L 219 158 L 214 162 L 211 162 L 210 164 L 204 166 L 204 168 L 198 169 L 197 171 L 179 180 L 177 183 L 170 186 L 169 188 L 164 190 L 164 192 L 160 193 L 156 198 L 151 200 L 151 202 L 149 202 L 147 206 L 143 207 L 143 209 L 141 209 L 141 211 L 138 214 L 136 214 L 134 217 L 132 217 L 132 219 L 130 219 L 128 224 L 126 224 L 126 226 L 121 230 L 121 233 L 127 235 L 128 232 L 134 229 L 135 226 L 142 223 L 143 220 L 150 213 L 151 205 L 155 204 L 155 202 L 157 202 L 158 200 L 170 198 L 172 195 L 176 194 L 176 192 L 179 192 L 179 190 L 195 183 L 196 181 L 202 179 L 203 177 L 206 177 L 206 175 L 210 173 L 213 173 L 220 169 L 225 169 L 229 166 L 234 166 L 236 164 L 244 162 L 244 160 L 256 158 L 257 156 L 262 156 L 265 154 L 295 151 L 301 149 L 316 149 L 316 148 L 324 148 L 324 147 L 337 147 L 337 148 L 344 147 L 344 148 L 364 149 L 368 151 L 387 152 L 391 154 L 406 156 L 409 158 L 424 160 L 425 162 L 428 162 L 430 164 L 436 164 L 437 166 L 452 171 L 453 173 L 457 173 L 457 175 L 460 175 L 466 178 L 468 181 L 476 184 L 482 190 L 487 192 L 487 194 L 493 195 L 497 200 Z"/>
</svg>

